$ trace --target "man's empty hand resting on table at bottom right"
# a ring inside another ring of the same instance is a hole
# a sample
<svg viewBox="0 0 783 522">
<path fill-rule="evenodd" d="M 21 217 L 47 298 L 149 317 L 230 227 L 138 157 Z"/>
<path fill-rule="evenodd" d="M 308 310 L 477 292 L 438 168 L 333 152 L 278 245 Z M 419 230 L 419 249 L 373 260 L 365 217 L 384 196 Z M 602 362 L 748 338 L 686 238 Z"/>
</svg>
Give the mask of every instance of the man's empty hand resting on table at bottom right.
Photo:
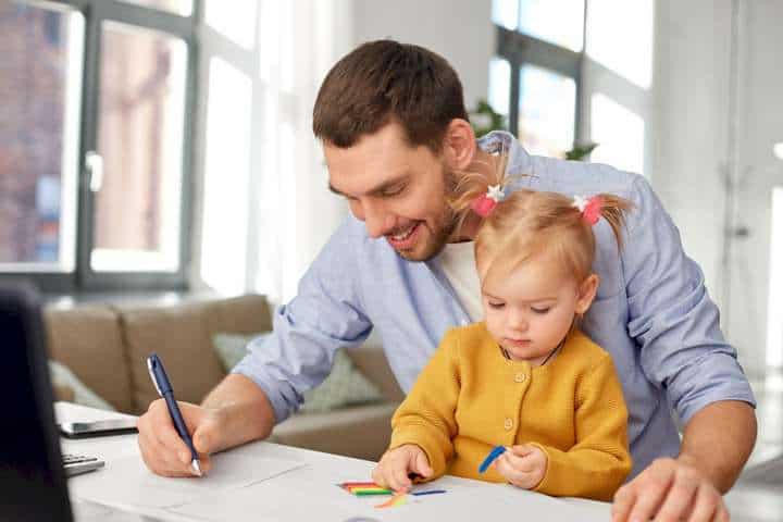
<svg viewBox="0 0 783 522">
<path fill-rule="evenodd" d="M 687 459 L 658 459 L 614 495 L 612 522 L 729 520 L 720 492 Z"/>
</svg>

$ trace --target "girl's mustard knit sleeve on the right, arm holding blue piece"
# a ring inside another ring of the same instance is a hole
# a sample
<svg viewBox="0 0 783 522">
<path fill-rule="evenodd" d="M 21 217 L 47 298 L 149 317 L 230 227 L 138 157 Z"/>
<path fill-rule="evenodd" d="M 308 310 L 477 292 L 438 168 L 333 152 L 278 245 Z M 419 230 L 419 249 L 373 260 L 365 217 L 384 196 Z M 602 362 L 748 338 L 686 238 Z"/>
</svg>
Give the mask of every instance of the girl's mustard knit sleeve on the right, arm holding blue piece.
<svg viewBox="0 0 783 522">
<path fill-rule="evenodd" d="M 532 443 L 547 455 L 536 492 L 611 500 L 631 472 L 627 409 L 611 358 L 604 357 L 576 388 L 576 444 L 568 451 Z"/>
</svg>

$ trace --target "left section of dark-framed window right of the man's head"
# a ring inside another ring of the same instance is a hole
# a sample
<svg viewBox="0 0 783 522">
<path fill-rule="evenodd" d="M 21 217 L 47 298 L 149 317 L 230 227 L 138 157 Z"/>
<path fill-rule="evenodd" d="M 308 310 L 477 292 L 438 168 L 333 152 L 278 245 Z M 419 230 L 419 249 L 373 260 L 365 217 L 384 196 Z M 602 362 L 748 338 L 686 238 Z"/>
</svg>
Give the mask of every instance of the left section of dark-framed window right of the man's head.
<svg viewBox="0 0 783 522">
<path fill-rule="evenodd" d="M 579 135 L 584 14 L 584 0 L 493 2 L 489 103 L 532 153 L 563 157 Z"/>
</svg>

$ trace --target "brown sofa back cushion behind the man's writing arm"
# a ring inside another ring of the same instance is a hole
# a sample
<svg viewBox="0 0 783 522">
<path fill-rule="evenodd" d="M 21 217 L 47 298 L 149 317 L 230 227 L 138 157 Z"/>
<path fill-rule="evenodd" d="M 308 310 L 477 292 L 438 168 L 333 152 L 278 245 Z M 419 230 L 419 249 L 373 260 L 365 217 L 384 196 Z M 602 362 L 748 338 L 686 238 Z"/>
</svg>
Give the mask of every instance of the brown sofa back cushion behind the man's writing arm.
<svg viewBox="0 0 783 522">
<path fill-rule="evenodd" d="M 212 348 L 217 332 L 249 334 L 270 325 L 262 296 L 189 302 L 176 307 L 121 310 L 136 412 L 158 398 L 147 372 L 147 356 L 157 352 L 165 364 L 178 400 L 200 402 L 226 374 Z"/>
</svg>

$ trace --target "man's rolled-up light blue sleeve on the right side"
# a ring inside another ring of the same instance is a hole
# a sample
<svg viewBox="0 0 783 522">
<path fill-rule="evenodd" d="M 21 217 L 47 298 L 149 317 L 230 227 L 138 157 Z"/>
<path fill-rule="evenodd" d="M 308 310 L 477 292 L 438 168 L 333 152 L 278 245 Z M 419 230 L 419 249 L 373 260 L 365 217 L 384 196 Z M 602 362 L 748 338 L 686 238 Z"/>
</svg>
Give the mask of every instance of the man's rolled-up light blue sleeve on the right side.
<svg viewBox="0 0 783 522">
<path fill-rule="evenodd" d="M 720 330 L 718 307 L 680 233 L 642 176 L 633 182 L 623 247 L 629 334 L 647 378 L 666 389 L 681 423 L 719 400 L 756 406 L 736 350 Z"/>
</svg>

